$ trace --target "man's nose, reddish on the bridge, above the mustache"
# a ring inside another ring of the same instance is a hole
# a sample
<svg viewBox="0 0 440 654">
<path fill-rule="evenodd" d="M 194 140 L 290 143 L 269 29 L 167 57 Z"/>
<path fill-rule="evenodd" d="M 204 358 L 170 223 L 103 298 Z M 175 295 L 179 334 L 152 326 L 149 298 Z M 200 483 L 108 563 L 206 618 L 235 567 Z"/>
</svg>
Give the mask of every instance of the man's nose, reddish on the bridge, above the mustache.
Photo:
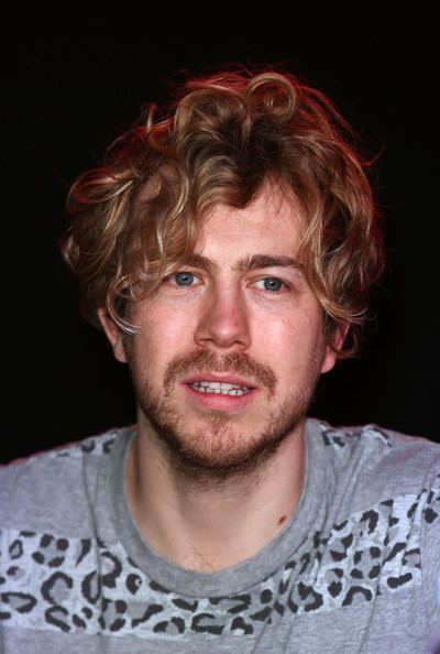
<svg viewBox="0 0 440 654">
<path fill-rule="evenodd" d="M 248 308 L 240 288 L 216 288 L 199 317 L 195 340 L 198 346 L 245 350 L 251 345 Z"/>
</svg>

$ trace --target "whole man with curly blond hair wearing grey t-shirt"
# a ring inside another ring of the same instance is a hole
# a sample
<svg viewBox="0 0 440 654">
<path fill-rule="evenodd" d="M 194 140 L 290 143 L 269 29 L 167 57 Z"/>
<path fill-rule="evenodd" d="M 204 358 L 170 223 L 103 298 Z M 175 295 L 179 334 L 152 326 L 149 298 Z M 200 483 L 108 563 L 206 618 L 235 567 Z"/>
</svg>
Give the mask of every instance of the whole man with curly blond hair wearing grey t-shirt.
<svg viewBox="0 0 440 654">
<path fill-rule="evenodd" d="M 7 654 L 435 646 L 440 448 L 306 419 L 383 266 L 348 133 L 289 75 L 219 74 L 74 185 L 138 422 L 3 469 Z"/>
</svg>

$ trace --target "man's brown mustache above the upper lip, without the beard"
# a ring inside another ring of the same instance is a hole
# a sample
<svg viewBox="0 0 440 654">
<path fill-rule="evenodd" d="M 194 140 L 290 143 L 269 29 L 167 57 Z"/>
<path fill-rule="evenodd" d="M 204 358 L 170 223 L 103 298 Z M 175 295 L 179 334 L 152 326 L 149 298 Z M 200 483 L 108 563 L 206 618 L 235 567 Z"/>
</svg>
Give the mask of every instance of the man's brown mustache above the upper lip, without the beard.
<svg viewBox="0 0 440 654">
<path fill-rule="evenodd" d="M 167 393 L 182 377 L 202 372 L 235 372 L 255 381 L 273 395 L 277 379 L 273 370 L 244 352 L 229 352 L 219 357 L 216 352 L 195 351 L 173 359 L 165 371 L 164 385 Z"/>
</svg>

